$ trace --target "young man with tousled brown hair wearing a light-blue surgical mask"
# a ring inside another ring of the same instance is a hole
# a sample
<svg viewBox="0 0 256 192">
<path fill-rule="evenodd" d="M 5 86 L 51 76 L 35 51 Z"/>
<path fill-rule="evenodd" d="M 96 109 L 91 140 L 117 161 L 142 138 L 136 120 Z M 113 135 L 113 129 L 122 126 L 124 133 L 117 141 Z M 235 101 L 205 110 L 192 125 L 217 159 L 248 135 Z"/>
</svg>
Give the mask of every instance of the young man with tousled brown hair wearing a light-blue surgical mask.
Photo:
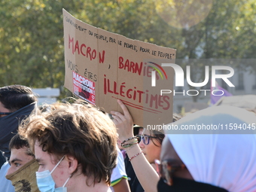
<svg viewBox="0 0 256 192">
<path fill-rule="evenodd" d="M 111 192 L 111 172 L 117 164 L 114 123 L 81 101 L 47 105 L 42 111 L 19 127 L 39 163 L 39 190 Z"/>
</svg>

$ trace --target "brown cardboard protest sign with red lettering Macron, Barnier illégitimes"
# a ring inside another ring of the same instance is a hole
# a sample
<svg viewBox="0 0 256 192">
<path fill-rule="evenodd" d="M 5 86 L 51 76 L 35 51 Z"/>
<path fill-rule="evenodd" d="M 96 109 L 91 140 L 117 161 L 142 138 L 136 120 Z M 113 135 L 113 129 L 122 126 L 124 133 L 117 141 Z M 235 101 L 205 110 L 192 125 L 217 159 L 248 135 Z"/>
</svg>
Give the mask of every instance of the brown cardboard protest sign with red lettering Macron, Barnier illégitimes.
<svg viewBox="0 0 256 192">
<path fill-rule="evenodd" d="M 172 122 L 173 70 L 176 51 L 90 26 L 63 9 L 65 84 L 75 95 L 110 112 L 123 101 L 140 126 Z M 151 75 L 155 71 L 156 86 Z"/>
</svg>

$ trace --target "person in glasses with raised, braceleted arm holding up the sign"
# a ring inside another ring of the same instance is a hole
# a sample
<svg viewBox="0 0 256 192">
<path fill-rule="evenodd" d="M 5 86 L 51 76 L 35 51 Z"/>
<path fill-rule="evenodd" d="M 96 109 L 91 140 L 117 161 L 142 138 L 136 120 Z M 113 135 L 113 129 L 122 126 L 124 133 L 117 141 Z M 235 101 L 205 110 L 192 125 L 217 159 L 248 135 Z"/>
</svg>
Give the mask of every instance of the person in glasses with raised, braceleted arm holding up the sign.
<svg viewBox="0 0 256 192">
<path fill-rule="evenodd" d="M 130 178 L 131 191 L 157 191 L 159 175 L 154 169 L 154 160 L 160 158 L 165 135 L 157 130 L 144 128 L 142 135 L 134 136 L 133 118 L 123 102 L 119 99 L 117 102 L 123 114 L 118 111 L 111 111 L 111 114 L 118 128 L 121 146 L 126 150 L 126 173 Z"/>
</svg>

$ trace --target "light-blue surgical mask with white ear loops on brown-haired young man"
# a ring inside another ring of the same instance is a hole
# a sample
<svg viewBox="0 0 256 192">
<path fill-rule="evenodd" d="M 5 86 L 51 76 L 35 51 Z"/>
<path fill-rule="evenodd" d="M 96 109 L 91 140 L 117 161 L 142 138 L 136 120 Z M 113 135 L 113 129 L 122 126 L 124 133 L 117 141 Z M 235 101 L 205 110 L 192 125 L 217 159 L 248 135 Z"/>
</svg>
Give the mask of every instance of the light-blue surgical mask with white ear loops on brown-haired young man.
<svg viewBox="0 0 256 192">
<path fill-rule="evenodd" d="M 66 182 L 63 184 L 63 186 L 58 188 L 55 188 L 55 182 L 53 180 L 53 177 L 51 176 L 53 171 L 56 169 L 57 166 L 59 166 L 59 163 L 61 163 L 64 157 L 65 155 L 61 158 L 61 160 L 59 160 L 56 166 L 54 166 L 51 172 L 49 170 L 46 170 L 44 172 L 35 172 L 38 189 L 41 192 L 67 192 L 67 187 L 65 187 L 65 185 L 69 181 L 70 176 L 66 180 Z"/>
</svg>

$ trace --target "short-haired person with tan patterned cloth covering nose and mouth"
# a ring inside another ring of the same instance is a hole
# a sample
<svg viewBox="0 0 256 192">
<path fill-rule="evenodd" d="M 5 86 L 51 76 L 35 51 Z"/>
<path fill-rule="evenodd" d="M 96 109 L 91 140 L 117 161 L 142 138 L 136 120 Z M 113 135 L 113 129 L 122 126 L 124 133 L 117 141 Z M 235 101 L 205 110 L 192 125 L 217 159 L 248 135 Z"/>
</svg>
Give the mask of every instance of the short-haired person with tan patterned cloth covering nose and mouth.
<svg viewBox="0 0 256 192">
<path fill-rule="evenodd" d="M 25 138 L 16 134 L 10 142 L 11 157 L 5 177 L 11 180 L 15 191 L 39 192 L 36 184 L 35 172 L 38 170 L 38 162 L 29 148 Z"/>
</svg>

